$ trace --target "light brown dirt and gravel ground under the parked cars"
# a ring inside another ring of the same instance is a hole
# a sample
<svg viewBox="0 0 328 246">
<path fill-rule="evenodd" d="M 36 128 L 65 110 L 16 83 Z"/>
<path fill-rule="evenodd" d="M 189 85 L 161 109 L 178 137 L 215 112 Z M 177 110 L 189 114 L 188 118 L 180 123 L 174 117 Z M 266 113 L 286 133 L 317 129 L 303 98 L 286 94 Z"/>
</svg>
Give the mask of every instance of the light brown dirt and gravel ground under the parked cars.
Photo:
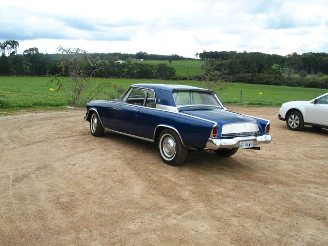
<svg viewBox="0 0 328 246">
<path fill-rule="evenodd" d="M 288 130 L 230 158 L 93 137 L 85 110 L 0 117 L 0 245 L 328 245 L 328 131 Z"/>
</svg>

